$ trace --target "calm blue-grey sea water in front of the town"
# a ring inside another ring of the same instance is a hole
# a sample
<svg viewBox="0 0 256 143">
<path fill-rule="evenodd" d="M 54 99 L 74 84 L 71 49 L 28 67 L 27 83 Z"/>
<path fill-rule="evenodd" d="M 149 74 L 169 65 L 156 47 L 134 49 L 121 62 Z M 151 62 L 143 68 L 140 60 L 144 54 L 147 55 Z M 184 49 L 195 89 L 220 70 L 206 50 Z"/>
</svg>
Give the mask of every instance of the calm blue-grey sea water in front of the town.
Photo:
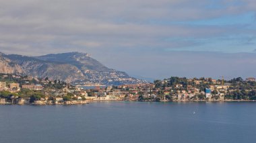
<svg viewBox="0 0 256 143">
<path fill-rule="evenodd" d="M 255 142 L 256 103 L 0 105 L 0 142 Z"/>
</svg>

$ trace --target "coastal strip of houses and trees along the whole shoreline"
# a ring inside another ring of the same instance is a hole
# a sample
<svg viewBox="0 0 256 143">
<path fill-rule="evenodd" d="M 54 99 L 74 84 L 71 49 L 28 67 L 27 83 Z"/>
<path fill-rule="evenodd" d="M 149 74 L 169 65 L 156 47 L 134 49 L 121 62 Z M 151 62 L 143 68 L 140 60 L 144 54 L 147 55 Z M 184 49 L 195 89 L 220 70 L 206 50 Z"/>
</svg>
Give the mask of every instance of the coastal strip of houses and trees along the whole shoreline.
<svg viewBox="0 0 256 143">
<path fill-rule="evenodd" d="M 0 74 L 1 104 L 69 105 L 90 101 L 254 101 L 255 78 L 170 77 L 154 83 L 86 89 L 48 77 Z"/>
</svg>

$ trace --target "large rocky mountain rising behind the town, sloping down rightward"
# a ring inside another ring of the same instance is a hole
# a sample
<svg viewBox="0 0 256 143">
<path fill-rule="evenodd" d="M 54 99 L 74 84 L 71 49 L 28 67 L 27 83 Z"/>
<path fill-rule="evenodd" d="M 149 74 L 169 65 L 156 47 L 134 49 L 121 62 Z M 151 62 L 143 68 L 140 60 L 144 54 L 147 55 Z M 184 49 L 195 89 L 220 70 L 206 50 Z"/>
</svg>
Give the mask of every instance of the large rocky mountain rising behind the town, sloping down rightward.
<svg viewBox="0 0 256 143">
<path fill-rule="evenodd" d="M 0 54 L 0 73 L 20 73 L 33 77 L 49 77 L 77 85 L 121 85 L 147 83 L 127 73 L 107 68 L 89 54 L 69 52 L 44 56 Z"/>
</svg>

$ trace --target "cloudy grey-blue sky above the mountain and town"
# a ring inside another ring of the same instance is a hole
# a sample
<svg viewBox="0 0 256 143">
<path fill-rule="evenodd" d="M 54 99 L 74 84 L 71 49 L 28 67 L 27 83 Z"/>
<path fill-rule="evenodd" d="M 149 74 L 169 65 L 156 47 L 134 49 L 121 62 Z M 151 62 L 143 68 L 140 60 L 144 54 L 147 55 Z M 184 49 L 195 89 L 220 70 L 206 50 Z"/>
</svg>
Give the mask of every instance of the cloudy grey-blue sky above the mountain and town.
<svg viewBox="0 0 256 143">
<path fill-rule="evenodd" d="M 0 51 L 88 52 L 135 77 L 256 77 L 255 0 L 0 0 Z"/>
</svg>

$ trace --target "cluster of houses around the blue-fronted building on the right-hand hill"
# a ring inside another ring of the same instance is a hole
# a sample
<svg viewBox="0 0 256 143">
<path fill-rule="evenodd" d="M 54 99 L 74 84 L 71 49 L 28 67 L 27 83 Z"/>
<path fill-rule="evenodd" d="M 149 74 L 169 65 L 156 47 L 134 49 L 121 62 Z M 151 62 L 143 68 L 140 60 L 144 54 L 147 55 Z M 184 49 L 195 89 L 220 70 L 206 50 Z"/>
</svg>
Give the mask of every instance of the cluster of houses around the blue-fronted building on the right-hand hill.
<svg viewBox="0 0 256 143">
<path fill-rule="evenodd" d="M 215 79 L 210 79 L 209 81 L 207 78 L 203 80 L 187 79 L 187 83 L 193 83 L 193 85 L 176 84 L 171 87 L 165 87 L 164 89 L 158 88 L 156 91 L 162 91 L 164 101 L 170 99 L 172 101 L 198 101 L 205 99 L 211 101 L 215 99 L 214 97 L 218 97 L 218 101 L 222 101 L 230 87 L 230 83 L 222 83 Z M 212 84 L 210 85 L 210 83 Z M 200 85 L 208 85 L 208 88 L 201 89 Z M 166 99 L 166 96 L 170 97 L 170 99 Z"/>
</svg>

